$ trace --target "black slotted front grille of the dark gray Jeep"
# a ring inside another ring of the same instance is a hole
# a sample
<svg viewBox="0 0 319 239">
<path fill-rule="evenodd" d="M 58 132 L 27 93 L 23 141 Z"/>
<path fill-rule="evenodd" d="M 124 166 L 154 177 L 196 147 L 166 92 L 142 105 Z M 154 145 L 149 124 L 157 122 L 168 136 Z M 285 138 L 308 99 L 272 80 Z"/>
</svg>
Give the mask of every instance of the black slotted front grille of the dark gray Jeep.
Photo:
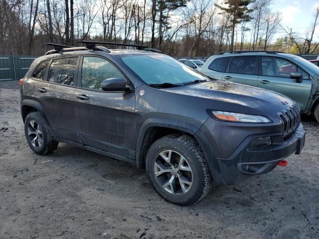
<svg viewBox="0 0 319 239">
<path fill-rule="evenodd" d="M 293 104 L 287 110 L 282 113 L 278 113 L 279 118 L 283 122 L 283 134 L 288 136 L 297 128 L 300 121 L 300 107 L 297 104 Z"/>
</svg>

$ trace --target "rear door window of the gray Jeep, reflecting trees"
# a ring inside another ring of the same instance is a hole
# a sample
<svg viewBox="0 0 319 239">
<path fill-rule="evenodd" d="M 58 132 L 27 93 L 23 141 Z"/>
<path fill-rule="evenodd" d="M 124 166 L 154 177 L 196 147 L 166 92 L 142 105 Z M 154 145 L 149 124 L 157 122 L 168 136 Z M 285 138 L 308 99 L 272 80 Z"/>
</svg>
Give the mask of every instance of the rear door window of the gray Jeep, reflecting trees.
<svg viewBox="0 0 319 239">
<path fill-rule="evenodd" d="M 78 57 L 60 58 L 52 61 L 48 81 L 73 86 Z"/>
</svg>

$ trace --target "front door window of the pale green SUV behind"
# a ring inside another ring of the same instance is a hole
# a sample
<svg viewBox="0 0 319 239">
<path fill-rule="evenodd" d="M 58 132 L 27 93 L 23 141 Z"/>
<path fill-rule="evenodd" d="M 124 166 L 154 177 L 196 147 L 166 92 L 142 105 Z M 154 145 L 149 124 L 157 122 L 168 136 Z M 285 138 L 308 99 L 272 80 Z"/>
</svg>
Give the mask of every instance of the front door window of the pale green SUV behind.
<svg viewBox="0 0 319 239">
<path fill-rule="evenodd" d="M 309 79 L 309 75 L 297 65 L 288 60 L 277 57 L 262 57 L 263 76 L 276 76 L 290 78 L 290 73 L 300 72 L 303 79 Z"/>
</svg>

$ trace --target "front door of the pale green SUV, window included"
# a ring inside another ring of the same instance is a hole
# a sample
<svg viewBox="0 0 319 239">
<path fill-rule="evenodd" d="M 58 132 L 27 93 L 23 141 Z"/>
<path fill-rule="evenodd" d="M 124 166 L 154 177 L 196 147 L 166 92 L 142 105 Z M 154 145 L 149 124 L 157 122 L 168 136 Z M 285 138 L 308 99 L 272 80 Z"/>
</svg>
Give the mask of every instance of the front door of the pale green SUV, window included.
<svg viewBox="0 0 319 239">
<path fill-rule="evenodd" d="M 290 78 L 291 72 L 302 73 L 302 83 L 297 83 L 296 79 Z M 258 86 L 288 96 L 300 105 L 301 111 L 304 111 L 312 84 L 310 75 L 295 63 L 286 58 L 262 56 Z"/>
</svg>

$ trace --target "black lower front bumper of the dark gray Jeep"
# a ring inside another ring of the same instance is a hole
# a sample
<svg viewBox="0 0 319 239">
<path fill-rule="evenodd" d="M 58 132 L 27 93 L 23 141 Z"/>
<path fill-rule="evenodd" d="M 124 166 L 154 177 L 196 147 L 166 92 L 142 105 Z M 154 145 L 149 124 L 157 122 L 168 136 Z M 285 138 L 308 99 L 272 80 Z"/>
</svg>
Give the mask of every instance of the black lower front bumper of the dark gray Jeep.
<svg viewBox="0 0 319 239">
<path fill-rule="evenodd" d="M 216 157 L 216 154 L 213 155 L 214 153 L 212 152 L 207 155 L 205 153 L 206 150 L 203 151 L 206 158 L 208 158 L 208 165 L 216 184 L 236 184 L 242 181 L 243 178 L 247 178 L 247 176 L 271 171 L 277 166 L 279 161 L 293 153 L 300 154 L 304 147 L 305 135 L 306 131 L 300 122 L 289 137 L 283 137 L 282 132 L 278 131 L 275 133 L 250 134 L 238 144 L 228 157 Z M 271 145 L 259 149 L 248 148 L 251 140 L 265 136 L 271 136 Z M 225 141 L 224 144 L 226 144 Z M 229 142 L 228 145 L 231 146 L 231 143 Z"/>
</svg>

